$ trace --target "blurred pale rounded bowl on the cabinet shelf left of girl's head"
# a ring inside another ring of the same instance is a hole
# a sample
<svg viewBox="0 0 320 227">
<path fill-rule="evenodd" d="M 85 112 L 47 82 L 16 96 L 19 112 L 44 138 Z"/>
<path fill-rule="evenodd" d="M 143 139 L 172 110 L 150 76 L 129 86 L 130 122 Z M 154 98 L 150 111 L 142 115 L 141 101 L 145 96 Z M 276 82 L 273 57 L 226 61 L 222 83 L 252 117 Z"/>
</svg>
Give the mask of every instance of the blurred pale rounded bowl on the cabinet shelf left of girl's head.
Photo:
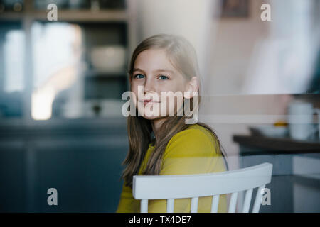
<svg viewBox="0 0 320 227">
<path fill-rule="evenodd" d="M 122 45 L 105 45 L 92 48 L 91 62 L 99 72 L 124 71 L 126 50 Z"/>
</svg>

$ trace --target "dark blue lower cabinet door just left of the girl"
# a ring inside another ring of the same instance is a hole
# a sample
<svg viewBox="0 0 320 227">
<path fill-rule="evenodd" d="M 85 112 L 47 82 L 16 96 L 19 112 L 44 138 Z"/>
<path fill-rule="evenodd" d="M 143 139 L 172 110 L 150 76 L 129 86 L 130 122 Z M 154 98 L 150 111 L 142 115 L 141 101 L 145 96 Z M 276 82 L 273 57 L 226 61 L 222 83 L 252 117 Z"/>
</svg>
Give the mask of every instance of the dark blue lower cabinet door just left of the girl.
<svg viewBox="0 0 320 227">
<path fill-rule="evenodd" d="M 38 211 L 116 211 L 127 143 L 112 137 L 107 140 L 100 137 L 37 143 L 34 190 Z M 58 206 L 47 203 L 50 188 L 58 191 Z"/>
</svg>

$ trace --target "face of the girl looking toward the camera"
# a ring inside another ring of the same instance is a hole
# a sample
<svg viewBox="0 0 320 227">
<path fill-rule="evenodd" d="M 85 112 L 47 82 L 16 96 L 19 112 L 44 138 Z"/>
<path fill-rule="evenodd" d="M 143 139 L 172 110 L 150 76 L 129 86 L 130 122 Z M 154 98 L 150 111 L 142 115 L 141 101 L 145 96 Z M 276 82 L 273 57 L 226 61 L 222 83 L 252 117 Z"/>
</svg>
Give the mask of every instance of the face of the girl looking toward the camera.
<svg viewBox="0 0 320 227">
<path fill-rule="evenodd" d="M 182 106 L 177 100 L 183 99 L 184 92 L 197 89 L 176 70 L 163 49 L 144 50 L 137 56 L 130 84 L 139 114 L 149 120 L 172 116 L 169 113 Z"/>
</svg>

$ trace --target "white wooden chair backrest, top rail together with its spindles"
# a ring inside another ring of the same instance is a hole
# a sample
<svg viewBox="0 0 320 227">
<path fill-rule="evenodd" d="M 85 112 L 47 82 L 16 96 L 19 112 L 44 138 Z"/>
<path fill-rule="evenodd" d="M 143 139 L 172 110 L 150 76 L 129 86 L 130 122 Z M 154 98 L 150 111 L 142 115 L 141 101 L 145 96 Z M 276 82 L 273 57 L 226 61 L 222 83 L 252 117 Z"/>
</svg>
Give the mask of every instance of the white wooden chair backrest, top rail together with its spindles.
<svg viewBox="0 0 320 227">
<path fill-rule="evenodd" d="M 213 196 L 211 213 L 218 211 L 220 194 L 231 194 L 228 212 L 235 212 L 238 192 L 245 191 L 242 212 L 247 213 L 253 189 L 257 195 L 252 212 L 260 209 L 265 184 L 271 182 L 272 164 L 263 163 L 252 167 L 226 172 L 200 175 L 144 175 L 133 177 L 134 199 L 141 199 L 140 211 L 148 212 L 149 199 L 167 199 L 166 211 L 174 212 L 174 199 L 191 198 L 191 213 L 198 210 L 198 197 Z"/>
</svg>

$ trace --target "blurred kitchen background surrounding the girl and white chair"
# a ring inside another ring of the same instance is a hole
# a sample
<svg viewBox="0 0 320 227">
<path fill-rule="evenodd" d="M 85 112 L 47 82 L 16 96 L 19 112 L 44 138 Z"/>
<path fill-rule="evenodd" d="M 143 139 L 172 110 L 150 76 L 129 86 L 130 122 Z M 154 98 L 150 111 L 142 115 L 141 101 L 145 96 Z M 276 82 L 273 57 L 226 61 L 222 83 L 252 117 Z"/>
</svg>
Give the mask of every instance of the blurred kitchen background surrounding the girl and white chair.
<svg viewBox="0 0 320 227">
<path fill-rule="evenodd" d="M 173 33 L 196 48 L 200 120 L 230 170 L 274 165 L 261 211 L 319 212 L 319 23 L 319 0 L 0 0 L 0 211 L 117 209 L 129 59 Z"/>
</svg>

